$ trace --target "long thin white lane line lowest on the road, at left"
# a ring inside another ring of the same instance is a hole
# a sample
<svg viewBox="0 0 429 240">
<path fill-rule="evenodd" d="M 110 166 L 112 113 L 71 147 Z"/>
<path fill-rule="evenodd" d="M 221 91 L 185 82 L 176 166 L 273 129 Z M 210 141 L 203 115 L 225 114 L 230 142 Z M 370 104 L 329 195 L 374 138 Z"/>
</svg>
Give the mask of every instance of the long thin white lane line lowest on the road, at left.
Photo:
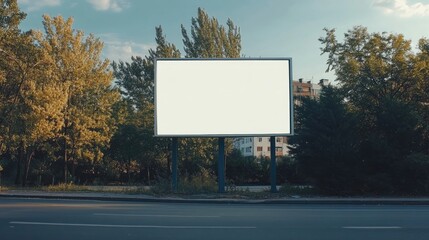
<svg viewBox="0 0 429 240">
<path fill-rule="evenodd" d="M 163 226 L 163 225 L 113 225 L 85 223 L 9 222 L 12 225 L 103 227 L 103 228 L 162 228 L 162 229 L 256 229 L 254 226 Z"/>
</svg>

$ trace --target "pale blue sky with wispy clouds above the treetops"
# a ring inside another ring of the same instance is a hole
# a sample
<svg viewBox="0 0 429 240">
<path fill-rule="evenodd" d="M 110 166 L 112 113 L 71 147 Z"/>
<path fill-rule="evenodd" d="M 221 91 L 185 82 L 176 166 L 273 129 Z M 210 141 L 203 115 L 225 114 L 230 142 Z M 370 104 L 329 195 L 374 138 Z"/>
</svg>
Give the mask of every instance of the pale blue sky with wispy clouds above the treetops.
<svg viewBox="0 0 429 240">
<path fill-rule="evenodd" d="M 184 55 L 181 24 L 190 31 L 201 7 L 226 25 L 240 28 L 242 55 L 254 58 L 291 57 L 293 78 L 317 83 L 325 78 L 326 55 L 318 41 L 324 28 L 403 34 L 417 46 L 429 38 L 429 0 L 18 0 L 27 18 L 22 30 L 43 29 L 42 16 L 74 19 L 74 28 L 104 42 L 103 57 L 131 61 L 155 48 L 155 27 Z"/>
</svg>

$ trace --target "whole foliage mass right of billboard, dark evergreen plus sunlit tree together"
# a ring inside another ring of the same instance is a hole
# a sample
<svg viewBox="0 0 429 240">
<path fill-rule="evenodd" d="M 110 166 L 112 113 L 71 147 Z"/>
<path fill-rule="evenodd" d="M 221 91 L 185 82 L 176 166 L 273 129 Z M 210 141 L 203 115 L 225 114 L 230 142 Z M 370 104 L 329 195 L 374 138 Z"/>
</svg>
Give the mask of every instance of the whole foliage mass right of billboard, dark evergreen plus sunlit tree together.
<svg viewBox="0 0 429 240">
<path fill-rule="evenodd" d="M 297 109 L 292 153 L 333 194 L 427 194 L 428 44 L 355 27 L 319 39 L 338 89 Z"/>
</svg>

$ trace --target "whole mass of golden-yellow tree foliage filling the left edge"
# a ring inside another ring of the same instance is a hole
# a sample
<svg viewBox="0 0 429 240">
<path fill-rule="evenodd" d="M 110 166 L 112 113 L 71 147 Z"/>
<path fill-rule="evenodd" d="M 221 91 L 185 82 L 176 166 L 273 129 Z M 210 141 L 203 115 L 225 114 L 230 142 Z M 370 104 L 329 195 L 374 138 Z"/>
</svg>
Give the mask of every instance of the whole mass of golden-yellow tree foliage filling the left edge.
<svg viewBox="0 0 429 240">
<path fill-rule="evenodd" d="M 109 63 L 100 60 L 102 43 L 61 17 L 44 17 L 45 34 L 22 33 L 25 13 L 17 1 L 0 3 L 0 156 L 9 159 L 15 183 L 22 178 L 26 184 L 30 175 L 39 183 L 46 174 L 54 177 L 61 147 L 73 166 L 100 159 L 118 99 Z"/>
</svg>

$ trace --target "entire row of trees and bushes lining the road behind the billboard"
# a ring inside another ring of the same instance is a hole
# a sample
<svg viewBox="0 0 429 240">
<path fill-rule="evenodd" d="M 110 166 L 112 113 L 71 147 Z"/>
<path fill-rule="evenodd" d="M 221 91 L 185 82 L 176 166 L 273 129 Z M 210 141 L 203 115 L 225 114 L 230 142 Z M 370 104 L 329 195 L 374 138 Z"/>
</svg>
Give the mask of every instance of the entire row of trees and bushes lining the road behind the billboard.
<svg viewBox="0 0 429 240">
<path fill-rule="evenodd" d="M 240 29 L 198 9 L 178 29 L 183 51 L 156 26 L 147 56 L 110 62 L 72 18 L 46 15 L 44 31 L 24 32 L 25 17 L 16 0 L 0 0 L 0 189 L 171 193 L 171 140 L 153 137 L 154 59 L 242 57 Z M 341 37 L 325 29 L 319 41 L 337 84 L 296 102 L 277 196 L 429 195 L 429 40 L 357 26 Z M 176 194 L 217 191 L 216 152 L 216 139 L 179 140 Z M 263 197 L 236 186 L 269 184 L 269 160 L 243 157 L 227 139 L 226 177 L 231 195 Z"/>
</svg>

